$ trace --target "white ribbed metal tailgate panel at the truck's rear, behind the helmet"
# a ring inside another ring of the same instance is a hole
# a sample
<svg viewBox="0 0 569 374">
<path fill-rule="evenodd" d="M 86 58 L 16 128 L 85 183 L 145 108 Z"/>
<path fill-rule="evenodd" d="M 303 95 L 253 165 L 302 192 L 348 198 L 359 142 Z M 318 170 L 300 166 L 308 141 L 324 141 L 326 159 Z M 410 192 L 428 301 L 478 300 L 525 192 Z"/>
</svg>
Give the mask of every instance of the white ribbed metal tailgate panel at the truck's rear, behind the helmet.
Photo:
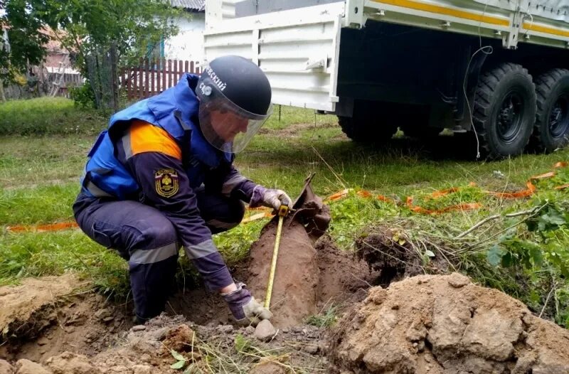
<svg viewBox="0 0 569 374">
<path fill-rule="evenodd" d="M 224 19 L 204 31 L 206 60 L 242 55 L 269 78 L 272 102 L 333 111 L 344 1 Z"/>
</svg>

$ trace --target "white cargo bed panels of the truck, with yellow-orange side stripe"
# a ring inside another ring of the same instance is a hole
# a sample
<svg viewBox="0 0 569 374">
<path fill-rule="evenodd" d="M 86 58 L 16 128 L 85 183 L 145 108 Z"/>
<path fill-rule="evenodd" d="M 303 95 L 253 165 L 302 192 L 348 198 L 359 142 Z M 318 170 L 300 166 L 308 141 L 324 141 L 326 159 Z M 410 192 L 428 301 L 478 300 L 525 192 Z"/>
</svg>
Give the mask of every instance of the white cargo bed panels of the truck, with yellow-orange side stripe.
<svg viewBox="0 0 569 374">
<path fill-rule="evenodd" d="M 259 8 L 262 0 L 208 0 L 205 62 L 243 55 L 267 74 L 275 104 L 334 112 L 342 28 L 378 21 L 497 39 L 507 49 L 522 43 L 568 48 L 569 1 L 534 1 L 346 0 L 240 16 L 240 4 Z"/>
</svg>

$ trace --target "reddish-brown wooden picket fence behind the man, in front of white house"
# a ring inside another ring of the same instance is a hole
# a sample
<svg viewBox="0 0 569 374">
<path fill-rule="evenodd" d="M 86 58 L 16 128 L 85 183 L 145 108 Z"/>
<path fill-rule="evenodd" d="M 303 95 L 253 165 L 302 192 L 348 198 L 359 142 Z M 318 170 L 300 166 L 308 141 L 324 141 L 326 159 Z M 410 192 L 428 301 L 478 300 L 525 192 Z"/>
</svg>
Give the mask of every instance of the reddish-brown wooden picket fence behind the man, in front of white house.
<svg viewBox="0 0 569 374">
<path fill-rule="evenodd" d="M 201 73 L 199 63 L 141 58 L 138 66 L 122 70 L 120 84 L 129 100 L 145 99 L 174 87 L 184 73 Z"/>
</svg>

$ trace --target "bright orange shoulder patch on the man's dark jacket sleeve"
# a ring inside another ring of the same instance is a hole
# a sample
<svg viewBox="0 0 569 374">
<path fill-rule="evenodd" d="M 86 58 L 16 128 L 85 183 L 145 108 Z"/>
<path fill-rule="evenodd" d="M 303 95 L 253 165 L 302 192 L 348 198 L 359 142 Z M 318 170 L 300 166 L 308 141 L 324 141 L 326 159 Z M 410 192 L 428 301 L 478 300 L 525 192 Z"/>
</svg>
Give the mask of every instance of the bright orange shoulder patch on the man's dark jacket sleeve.
<svg viewBox="0 0 569 374">
<path fill-rule="evenodd" d="M 166 130 L 148 122 L 135 119 L 130 126 L 132 156 L 143 152 L 161 152 L 174 159 L 182 159 L 182 151 L 176 140 Z"/>
</svg>

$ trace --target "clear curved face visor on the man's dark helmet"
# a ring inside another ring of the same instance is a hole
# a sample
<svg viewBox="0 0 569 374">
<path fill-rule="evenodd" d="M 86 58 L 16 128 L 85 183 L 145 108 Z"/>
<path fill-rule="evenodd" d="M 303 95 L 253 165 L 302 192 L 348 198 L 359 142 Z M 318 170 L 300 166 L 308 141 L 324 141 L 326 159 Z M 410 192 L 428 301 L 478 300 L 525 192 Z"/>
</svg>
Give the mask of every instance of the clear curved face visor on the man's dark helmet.
<svg viewBox="0 0 569 374">
<path fill-rule="evenodd" d="M 215 85 L 210 87 L 215 93 L 198 95 L 199 120 L 203 137 L 221 151 L 233 154 L 243 151 L 270 116 L 272 105 L 267 109 L 267 114 L 254 114 L 235 105 Z"/>
</svg>

